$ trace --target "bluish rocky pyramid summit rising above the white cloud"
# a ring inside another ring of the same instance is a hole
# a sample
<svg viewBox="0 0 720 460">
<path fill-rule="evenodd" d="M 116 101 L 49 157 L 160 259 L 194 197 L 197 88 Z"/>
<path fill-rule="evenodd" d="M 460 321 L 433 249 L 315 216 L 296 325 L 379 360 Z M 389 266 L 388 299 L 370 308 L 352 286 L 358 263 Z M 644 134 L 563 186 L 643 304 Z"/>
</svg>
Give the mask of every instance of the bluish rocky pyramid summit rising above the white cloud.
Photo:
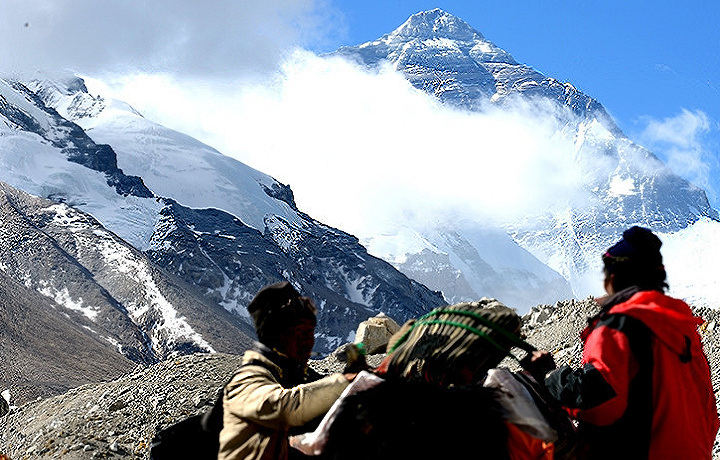
<svg viewBox="0 0 720 460">
<path fill-rule="evenodd" d="M 604 107 L 569 83 L 518 63 L 465 21 L 441 9 L 412 15 L 395 31 L 335 53 L 369 67 L 389 61 L 418 89 L 457 107 L 481 110 L 513 96 L 548 98 L 575 116 L 599 121 L 622 135 Z"/>
</svg>

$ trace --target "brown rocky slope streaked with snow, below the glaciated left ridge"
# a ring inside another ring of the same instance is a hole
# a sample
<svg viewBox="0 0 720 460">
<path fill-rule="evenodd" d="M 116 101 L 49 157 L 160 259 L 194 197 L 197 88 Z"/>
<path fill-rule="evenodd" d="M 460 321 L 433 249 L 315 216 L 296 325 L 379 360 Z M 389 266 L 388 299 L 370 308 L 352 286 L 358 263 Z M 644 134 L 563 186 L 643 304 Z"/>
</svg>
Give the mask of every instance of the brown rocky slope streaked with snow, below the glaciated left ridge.
<svg viewBox="0 0 720 460">
<path fill-rule="evenodd" d="M 8 282 L 34 291 L 16 297 L 17 305 L 5 305 L 7 315 L 22 310 L 36 318 L 64 316 L 56 329 L 68 323 L 137 363 L 178 353 L 237 353 L 251 343 L 254 333 L 244 322 L 208 303 L 89 214 L 0 182 L 0 217 L 0 271 Z M 29 301 L 38 295 L 41 301 Z M 23 326 L 14 323 L 16 335 L 5 340 L 21 346 L 45 333 Z M 62 341 L 48 337 L 45 343 L 49 349 Z M 76 359 L 72 348 L 55 358 Z"/>
</svg>

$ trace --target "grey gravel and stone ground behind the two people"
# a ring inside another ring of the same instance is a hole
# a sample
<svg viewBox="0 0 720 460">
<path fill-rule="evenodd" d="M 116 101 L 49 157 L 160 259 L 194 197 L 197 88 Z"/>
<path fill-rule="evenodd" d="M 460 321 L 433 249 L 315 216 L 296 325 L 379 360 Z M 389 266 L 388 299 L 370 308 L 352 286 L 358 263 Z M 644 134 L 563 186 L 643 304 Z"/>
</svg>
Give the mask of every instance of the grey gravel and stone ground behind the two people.
<svg viewBox="0 0 720 460">
<path fill-rule="evenodd" d="M 596 308 L 590 300 L 537 307 L 524 317 L 527 340 L 552 351 L 558 364 L 577 364 L 578 334 Z M 707 320 L 701 333 L 720 397 L 720 313 L 697 313 Z M 382 355 L 370 358 L 374 365 Z M 14 408 L 0 419 L 0 452 L 12 460 L 148 458 L 155 431 L 209 407 L 240 359 L 229 354 L 184 356 Z M 516 366 L 511 360 L 502 365 Z M 326 373 L 342 369 L 342 363 L 330 355 L 313 367 Z M 720 459 L 717 444 L 714 458 Z"/>
</svg>

